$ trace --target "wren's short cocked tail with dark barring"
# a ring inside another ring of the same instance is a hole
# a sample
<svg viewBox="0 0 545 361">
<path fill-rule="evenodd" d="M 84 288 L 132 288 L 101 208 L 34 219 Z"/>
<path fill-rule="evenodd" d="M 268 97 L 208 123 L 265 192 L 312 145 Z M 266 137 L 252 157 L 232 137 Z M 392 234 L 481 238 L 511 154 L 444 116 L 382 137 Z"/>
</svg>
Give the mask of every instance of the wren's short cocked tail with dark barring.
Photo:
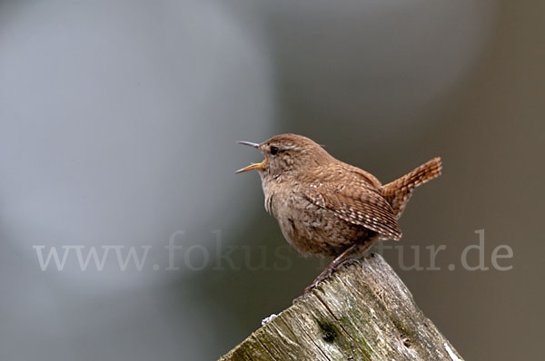
<svg viewBox="0 0 545 361">
<path fill-rule="evenodd" d="M 412 190 L 441 175 L 441 158 L 433 158 L 420 167 L 381 187 L 382 197 L 391 205 L 394 216 L 399 219 L 411 199 Z"/>
</svg>

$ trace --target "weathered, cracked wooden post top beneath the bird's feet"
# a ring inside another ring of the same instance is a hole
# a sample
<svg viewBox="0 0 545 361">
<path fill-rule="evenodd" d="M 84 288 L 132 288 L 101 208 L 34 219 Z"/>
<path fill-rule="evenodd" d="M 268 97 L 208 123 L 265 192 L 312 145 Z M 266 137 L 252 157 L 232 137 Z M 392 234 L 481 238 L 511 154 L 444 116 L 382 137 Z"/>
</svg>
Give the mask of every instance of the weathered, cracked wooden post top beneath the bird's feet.
<svg viewBox="0 0 545 361">
<path fill-rule="evenodd" d="M 461 360 L 380 255 L 342 268 L 223 361 Z"/>
</svg>

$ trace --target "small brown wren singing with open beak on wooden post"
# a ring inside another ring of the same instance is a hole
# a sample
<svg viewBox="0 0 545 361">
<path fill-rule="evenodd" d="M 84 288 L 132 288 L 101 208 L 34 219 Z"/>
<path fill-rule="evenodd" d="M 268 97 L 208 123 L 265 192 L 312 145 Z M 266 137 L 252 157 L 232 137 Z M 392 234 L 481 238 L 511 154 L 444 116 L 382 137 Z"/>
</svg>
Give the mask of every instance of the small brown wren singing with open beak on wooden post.
<svg viewBox="0 0 545 361">
<path fill-rule="evenodd" d="M 265 156 L 261 163 L 236 172 L 259 172 L 265 210 L 278 220 L 285 239 L 303 255 L 335 258 L 305 293 L 374 240 L 401 239 L 397 220 L 412 190 L 441 174 L 441 158 L 434 158 L 382 185 L 371 173 L 336 160 L 301 135 L 281 134 L 261 144 L 239 143 Z"/>
</svg>

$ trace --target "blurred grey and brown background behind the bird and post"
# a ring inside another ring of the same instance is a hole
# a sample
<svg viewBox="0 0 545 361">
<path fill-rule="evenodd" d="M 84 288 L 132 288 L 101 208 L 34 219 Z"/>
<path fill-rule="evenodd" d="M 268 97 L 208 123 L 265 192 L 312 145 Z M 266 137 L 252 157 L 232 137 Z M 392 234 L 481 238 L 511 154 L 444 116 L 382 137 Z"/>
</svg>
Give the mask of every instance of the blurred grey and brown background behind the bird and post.
<svg viewBox="0 0 545 361">
<path fill-rule="evenodd" d="M 233 174 L 262 160 L 235 141 L 281 132 L 383 182 L 441 155 L 401 218 L 407 251 L 447 246 L 441 271 L 384 255 L 462 356 L 540 359 L 544 16 L 507 0 L 0 2 L 0 359 L 210 360 L 291 305 L 325 260 L 289 249 L 258 176 Z M 476 229 L 487 266 L 509 245 L 512 269 L 447 268 Z M 151 249 L 142 270 L 42 271 L 40 245 Z"/>
</svg>

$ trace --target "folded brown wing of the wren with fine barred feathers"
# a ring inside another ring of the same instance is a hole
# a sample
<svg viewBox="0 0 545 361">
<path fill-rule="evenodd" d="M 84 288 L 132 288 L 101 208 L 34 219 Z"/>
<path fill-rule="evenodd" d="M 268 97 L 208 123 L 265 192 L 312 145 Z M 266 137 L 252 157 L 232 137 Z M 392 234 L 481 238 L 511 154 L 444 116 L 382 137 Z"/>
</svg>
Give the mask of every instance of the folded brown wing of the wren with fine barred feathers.
<svg viewBox="0 0 545 361">
<path fill-rule="evenodd" d="M 308 200 L 342 220 L 372 229 L 381 239 L 401 239 L 390 204 L 371 184 L 351 177 L 349 181 L 315 179 L 301 186 Z"/>
</svg>

